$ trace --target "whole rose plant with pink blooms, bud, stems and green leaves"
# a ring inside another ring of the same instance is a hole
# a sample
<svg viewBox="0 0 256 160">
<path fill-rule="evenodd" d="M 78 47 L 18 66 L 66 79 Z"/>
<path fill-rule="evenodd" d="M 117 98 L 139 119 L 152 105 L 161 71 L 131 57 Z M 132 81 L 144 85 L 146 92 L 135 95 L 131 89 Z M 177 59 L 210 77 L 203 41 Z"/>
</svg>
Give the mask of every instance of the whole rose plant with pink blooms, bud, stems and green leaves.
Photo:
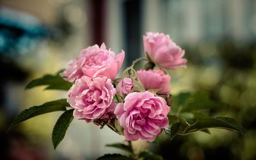
<svg viewBox="0 0 256 160">
<path fill-rule="evenodd" d="M 171 95 L 171 77 L 168 70 L 186 67 L 185 51 L 163 33 L 143 36 L 145 58 L 134 60 L 125 68 L 122 77 L 116 78 L 122 67 L 125 52 L 115 52 L 93 45 L 83 49 L 65 70 L 56 75 L 45 75 L 31 81 L 26 88 L 46 85 L 47 90 L 65 90 L 67 99 L 53 100 L 33 106 L 20 113 L 13 126 L 37 115 L 64 111 L 52 131 L 54 149 L 63 140 L 73 118 L 94 123 L 100 128 L 108 126 L 123 135 L 127 144 L 115 143 L 109 147 L 121 148 L 129 157 L 108 154 L 99 159 L 148 159 L 156 156 L 148 151 L 136 153 L 131 141 L 152 142 L 164 133 L 172 140 L 177 135 L 196 131 L 209 133 L 209 128 L 222 128 L 246 134 L 234 118 L 211 118 L 202 109 L 218 109 L 220 104 L 198 93 Z M 144 68 L 134 70 L 139 61 L 147 61 Z M 189 114 L 188 114 L 189 113 Z M 159 157 L 161 159 L 161 157 Z"/>
</svg>

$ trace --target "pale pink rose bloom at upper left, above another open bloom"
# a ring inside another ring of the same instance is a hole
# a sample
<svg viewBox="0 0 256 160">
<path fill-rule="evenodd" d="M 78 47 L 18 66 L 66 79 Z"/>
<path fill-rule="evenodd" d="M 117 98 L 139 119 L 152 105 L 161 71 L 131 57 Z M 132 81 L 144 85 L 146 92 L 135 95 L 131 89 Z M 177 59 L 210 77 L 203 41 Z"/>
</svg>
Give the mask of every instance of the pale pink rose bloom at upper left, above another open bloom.
<svg viewBox="0 0 256 160">
<path fill-rule="evenodd" d="M 115 79 L 124 61 L 124 51 L 115 56 L 115 52 L 106 49 L 103 43 L 83 49 L 76 60 L 68 62 L 67 69 L 61 73 L 67 81 L 75 81 L 82 76 L 106 76 Z"/>
</svg>

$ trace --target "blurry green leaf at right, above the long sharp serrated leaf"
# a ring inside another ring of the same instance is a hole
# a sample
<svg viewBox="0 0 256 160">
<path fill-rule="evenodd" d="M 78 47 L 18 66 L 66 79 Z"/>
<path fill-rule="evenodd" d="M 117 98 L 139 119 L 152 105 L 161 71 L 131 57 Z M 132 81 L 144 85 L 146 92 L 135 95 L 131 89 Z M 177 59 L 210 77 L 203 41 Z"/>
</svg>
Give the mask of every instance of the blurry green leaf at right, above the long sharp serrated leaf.
<svg viewBox="0 0 256 160">
<path fill-rule="evenodd" d="M 223 108 L 220 104 L 211 99 L 197 98 L 189 99 L 181 109 L 182 112 L 198 111 L 202 109 L 220 109 Z"/>
</svg>

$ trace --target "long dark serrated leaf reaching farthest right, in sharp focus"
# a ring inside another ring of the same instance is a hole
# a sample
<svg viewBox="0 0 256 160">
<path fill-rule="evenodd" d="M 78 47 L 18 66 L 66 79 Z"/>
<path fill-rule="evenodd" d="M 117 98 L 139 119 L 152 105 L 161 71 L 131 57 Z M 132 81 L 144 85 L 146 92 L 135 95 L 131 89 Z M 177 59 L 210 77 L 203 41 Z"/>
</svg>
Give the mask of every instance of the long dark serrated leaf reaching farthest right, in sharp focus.
<svg viewBox="0 0 256 160">
<path fill-rule="evenodd" d="M 207 128 L 228 129 L 246 135 L 246 131 L 243 126 L 234 118 L 229 117 L 199 118 L 195 125 L 186 130 L 186 133 L 200 131 Z"/>
</svg>

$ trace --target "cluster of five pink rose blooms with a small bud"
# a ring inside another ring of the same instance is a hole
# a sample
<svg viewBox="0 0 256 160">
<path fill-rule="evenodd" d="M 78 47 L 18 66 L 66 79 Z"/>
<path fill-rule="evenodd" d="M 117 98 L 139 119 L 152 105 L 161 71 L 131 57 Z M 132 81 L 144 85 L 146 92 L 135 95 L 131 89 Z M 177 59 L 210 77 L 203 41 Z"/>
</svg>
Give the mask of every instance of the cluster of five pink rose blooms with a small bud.
<svg viewBox="0 0 256 160">
<path fill-rule="evenodd" d="M 116 118 L 126 140 L 132 141 L 154 141 L 168 126 L 170 106 L 163 97 L 170 97 L 171 77 L 161 69 L 186 66 L 184 50 L 163 33 L 147 33 L 143 44 L 148 61 L 157 69 L 138 70 L 136 77 L 123 77 L 118 83 L 115 77 L 124 61 L 124 51 L 115 56 L 105 44 L 93 45 L 68 63 L 61 76 L 74 82 L 67 101 L 74 108 L 75 118 L 105 125 L 103 120 L 112 127 L 116 127 L 111 124 Z"/>
</svg>

